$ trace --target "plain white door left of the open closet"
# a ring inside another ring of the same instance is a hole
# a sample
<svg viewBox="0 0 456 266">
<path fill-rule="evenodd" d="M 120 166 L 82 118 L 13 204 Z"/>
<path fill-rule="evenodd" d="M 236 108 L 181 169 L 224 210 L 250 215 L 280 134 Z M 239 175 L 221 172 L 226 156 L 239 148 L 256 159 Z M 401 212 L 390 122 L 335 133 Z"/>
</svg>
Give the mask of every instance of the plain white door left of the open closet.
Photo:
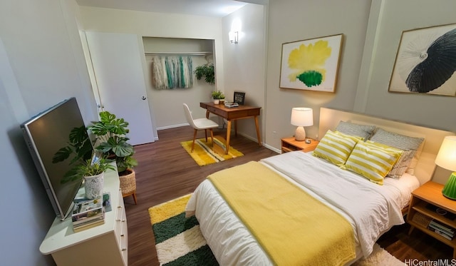
<svg viewBox="0 0 456 266">
<path fill-rule="evenodd" d="M 132 145 L 154 141 L 138 36 L 86 32 L 100 108 L 130 123 Z"/>
</svg>

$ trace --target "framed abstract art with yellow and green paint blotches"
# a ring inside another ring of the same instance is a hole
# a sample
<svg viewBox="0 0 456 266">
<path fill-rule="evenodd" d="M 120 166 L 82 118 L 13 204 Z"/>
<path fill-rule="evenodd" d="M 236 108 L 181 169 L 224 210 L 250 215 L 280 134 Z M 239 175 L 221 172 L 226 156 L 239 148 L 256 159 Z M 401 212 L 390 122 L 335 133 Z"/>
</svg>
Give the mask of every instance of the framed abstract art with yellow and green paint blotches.
<svg viewBox="0 0 456 266">
<path fill-rule="evenodd" d="M 280 88 L 334 92 L 342 34 L 282 44 Z"/>
</svg>

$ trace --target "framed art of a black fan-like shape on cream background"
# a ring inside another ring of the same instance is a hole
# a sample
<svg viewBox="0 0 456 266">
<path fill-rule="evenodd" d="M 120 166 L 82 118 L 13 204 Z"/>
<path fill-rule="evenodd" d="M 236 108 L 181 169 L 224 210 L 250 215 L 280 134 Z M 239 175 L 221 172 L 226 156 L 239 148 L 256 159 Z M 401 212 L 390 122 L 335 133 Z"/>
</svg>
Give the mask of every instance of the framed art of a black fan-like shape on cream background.
<svg viewBox="0 0 456 266">
<path fill-rule="evenodd" d="M 388 91 L 456 96 L 456 24 L 403 31 Z"/>
</svg>

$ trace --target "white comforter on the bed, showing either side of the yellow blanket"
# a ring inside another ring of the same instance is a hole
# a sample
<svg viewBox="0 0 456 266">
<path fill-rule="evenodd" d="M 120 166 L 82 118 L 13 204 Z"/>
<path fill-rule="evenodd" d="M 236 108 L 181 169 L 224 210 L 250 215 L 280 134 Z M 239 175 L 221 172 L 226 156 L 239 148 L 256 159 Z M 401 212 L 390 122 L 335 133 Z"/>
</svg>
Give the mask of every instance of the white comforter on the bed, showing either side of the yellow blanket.
<svg viewBox="0 0 456 266">
<path fill-rule="evenodd" d="M 261 163 L 351 222 L 364 257 L 371 254 L 373 244 L 383 232 L 404 222 L 401 209 L 407 205 L 410 192 L 419 186 L 411 175 L 400 180 L 387 178 L 383 186 L 376 185 L 311 153 L 284 153 Z M 187 215 L 196 215 L 202 234 L 221 265 L 272 264 L 209 180 L 195 190 L 186 211 Z"/>
</svg>

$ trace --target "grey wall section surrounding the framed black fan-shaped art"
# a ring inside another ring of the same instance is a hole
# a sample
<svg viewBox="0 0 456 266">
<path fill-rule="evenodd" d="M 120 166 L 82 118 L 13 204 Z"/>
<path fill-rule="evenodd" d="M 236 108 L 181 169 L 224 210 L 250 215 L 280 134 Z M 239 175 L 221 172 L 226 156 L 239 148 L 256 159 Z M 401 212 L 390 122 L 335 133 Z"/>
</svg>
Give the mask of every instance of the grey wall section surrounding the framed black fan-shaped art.
<svg viewBox="0 0 456 266">
<path fill-rule="evenodd" d="M 366 39 L 370 46 L 362 68 L 368 71 L 358 86 L 356 110 L 456 132 L 455 97 L 388 92 L 402 31 L 456 23 L 456 1 L 382 0 L 375 5 L 372 16 L 378 19 L 369 27 L 377 31 Z"/>
</svg>

